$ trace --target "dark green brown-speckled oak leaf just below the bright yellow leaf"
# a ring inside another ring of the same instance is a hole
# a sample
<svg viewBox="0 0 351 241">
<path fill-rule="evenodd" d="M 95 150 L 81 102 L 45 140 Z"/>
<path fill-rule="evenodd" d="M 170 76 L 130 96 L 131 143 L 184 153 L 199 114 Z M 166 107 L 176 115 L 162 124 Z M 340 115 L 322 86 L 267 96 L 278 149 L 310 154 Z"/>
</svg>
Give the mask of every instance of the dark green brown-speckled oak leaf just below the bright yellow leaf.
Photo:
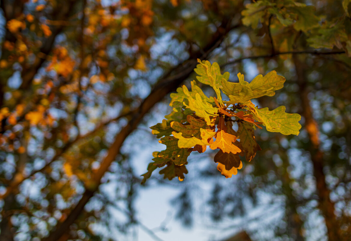
<svg viewBox="0 0 351 241">
<path fill-rule="evenodd" d="M 186 148 L 178 147 L 178 139 L 175 137 L 167 136 L 159 140 L 160 143 L 167 146 L 166 150 L 161 151 L 158 157 L 171 160 L 176 165 L 183 165 L 186 163 L 190 152 Z"/>
</svg>

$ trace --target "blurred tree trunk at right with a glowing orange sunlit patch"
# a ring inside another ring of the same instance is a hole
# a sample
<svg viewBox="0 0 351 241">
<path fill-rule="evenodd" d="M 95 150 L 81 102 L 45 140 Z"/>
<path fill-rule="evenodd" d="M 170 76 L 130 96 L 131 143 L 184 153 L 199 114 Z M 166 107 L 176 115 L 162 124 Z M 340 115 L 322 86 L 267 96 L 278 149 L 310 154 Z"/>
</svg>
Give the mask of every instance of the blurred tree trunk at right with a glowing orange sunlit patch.
<svg viewBox="0 0 351 241">
<path fill-rule="evenodd" d="M 306 148 L 311 154 L 313 164 L 313 175 L 316 178 L 316 190 L 319 197 L 318 208 L 322 212 L 327 227 L 329 241 L 343 240 L 340 235 L 340 227 L 334 213 L 334 203 L 330 199 L 330 190 L 325 182 L 323 172 L 323 152 L 320 150 L 319 129 L 316 120 L 313 118 L 311 105 L 308 99 L 307 77 L 305 73 L 305 64 L 300 62 L 297 55 L 293 56 L 297 83 L 299 85 L 299 96 L 302 107 L 302 116 L 305 119 L 305 128 L 309 135 L 310 145 Z"/>
</svg>

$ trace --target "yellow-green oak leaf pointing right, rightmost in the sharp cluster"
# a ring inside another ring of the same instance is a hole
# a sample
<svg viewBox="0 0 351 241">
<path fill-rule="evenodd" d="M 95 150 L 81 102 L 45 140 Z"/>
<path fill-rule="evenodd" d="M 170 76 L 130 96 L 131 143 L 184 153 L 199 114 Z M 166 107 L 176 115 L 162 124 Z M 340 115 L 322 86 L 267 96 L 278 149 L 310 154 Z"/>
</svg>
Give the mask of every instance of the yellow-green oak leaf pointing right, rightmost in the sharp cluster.
<svg viewBox="0 0 351 241">
<path fill-rule="evenodd" d="M 301 125 L 299 114 L 285 113 L 285 106 L 279 106 L 274 110 L 268 108 L 258 109 L 255 107 L 256 112 L 253 113 L 253 118 L 263 123 L 267 131 L 280 132 L 284 135 L 298 135 Z"/>
</svg>

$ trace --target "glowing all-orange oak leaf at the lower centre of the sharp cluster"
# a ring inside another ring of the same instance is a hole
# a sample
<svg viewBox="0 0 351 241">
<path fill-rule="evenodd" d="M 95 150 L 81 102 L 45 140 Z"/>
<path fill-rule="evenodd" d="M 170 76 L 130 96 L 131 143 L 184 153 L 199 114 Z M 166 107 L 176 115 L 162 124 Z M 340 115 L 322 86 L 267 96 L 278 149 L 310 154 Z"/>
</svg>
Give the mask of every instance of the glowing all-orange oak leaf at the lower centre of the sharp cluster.
<svg viewBox="0 0 351 241">
<path fill-rule="evenodd" d="M 237 152 L 241 152 L 240 148 L 232 143 L 236 140 L 237 138 L 235 135 L 228 134 L 225 131 L 218 131 L 216 134 L 216 141 L 210 145 L 210 148 L 212 150 L 219 148 L 223 152 L 236 154 Z"/>
</svg>

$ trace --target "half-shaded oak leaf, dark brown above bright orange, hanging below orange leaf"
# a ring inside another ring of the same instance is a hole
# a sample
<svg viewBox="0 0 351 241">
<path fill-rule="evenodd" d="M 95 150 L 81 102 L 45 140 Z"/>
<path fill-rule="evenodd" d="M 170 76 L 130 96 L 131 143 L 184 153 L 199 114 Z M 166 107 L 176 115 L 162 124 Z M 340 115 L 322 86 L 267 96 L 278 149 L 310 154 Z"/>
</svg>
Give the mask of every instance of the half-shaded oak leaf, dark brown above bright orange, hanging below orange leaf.
<svg viewBox="0 0 351 241">
<path fill-rule="evenodd" d="M 243 167 L 238 154 L 225 153 L 221 150 L 214 156 L 214 162 L 218 163 L 217 170 L 221 172 L 226 178 L 237 175 L 238 169 Z"/>
</svg>

